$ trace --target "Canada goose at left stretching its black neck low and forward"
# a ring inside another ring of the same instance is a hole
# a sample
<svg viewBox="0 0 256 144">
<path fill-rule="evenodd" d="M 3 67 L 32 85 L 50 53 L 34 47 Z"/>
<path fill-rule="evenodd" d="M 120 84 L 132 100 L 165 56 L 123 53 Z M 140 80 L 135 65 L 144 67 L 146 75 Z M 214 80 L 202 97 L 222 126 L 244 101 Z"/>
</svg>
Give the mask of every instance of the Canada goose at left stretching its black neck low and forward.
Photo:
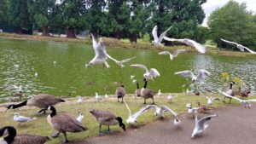
<svg viewBox="0 0 256 144">
<path fill-rule="evenodd" d="M 45 113 L 45 111 L 49 106 L 55 105 L 59 102 L 65 102 L 65 101 L 62 99 L 56 98 L 54 95 L 39 94 L 27 101 L 21 102 L 20 104 L 11 104 L 7 108 L 15 109 L 23 106 L 34 106 L 34 107 L 42 108 L 38 113 L 43 111 Z"/>
</svg>

